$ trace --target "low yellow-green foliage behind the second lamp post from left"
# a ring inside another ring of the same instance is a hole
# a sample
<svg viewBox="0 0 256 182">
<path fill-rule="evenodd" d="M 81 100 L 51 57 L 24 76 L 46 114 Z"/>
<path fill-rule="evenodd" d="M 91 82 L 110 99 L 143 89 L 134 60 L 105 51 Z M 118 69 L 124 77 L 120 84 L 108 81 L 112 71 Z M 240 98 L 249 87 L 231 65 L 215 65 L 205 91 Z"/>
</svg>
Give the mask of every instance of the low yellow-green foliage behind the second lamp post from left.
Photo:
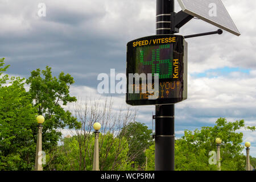
<svg viewBox="0 0 256 182">
<path fill-rule="evenodd" d="M 129 146 L 126 139 L 114 138 L 114 135 L 111 133 L 105 135 L 100 134 L 99 140 L 101 140 L 102 137 L 104 137 L 104 140 L 100 145 L 99 151 L 101 171 L 131 170 L 131 162 L 127 157 Z M 84 163 L 86 164 L 86 171 L 92 171 L 93 168 L 94 139 L 94 134 L 90 134 L 88 151 L 86 151 L 86 154 L 82 155 L 85 156 Z M 112 143 L 110 148 L 109 143 Z M 55 168 L 58 171 L 79 171 L 79 158 L 80 150 L 77 136 L 64 138 L 63 145 L 57 147 L 57 150 L 53 150 L 47 155 L 46 167 L 50 170 Z"/>
</svg>

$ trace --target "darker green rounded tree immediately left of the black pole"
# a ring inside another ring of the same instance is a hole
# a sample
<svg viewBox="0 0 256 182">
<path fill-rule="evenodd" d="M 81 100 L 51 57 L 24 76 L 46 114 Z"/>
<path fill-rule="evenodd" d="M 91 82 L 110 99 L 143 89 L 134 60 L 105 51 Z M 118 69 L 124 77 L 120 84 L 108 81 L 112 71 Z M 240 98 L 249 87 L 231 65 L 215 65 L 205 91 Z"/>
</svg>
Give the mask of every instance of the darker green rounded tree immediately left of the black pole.
<svg viewBox="0 0 256 182">
<path fill-rule="evenodd" d="M 144 123 L 131 122 L 123 127 L 121 136 L 124 136 L 129 143 L 129 159 L 138 167 L 144 167 L 146 163 L 145 151 L 153 144 L 152 130 L 149 130 Z"/>
</svg>

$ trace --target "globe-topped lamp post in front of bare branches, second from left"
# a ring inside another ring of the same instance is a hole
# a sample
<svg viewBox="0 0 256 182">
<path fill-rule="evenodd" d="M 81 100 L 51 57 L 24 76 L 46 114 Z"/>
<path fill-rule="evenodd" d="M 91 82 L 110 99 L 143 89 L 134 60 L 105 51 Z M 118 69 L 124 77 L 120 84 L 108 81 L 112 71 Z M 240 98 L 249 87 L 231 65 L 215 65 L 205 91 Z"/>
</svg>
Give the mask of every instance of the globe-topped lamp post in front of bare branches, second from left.
<svg viewBox="0 0 256 182">
<path fill-rule="evenodd" d="M 94 154 L 93 154 L 93 171 L 100 171 L 99 159 L 98 159 L 98 134 L 100 133 L 98 130 L 101 129 L 101 124 L 96 122 L 93 125 L 94 133 L 95 133 L 95 142 L 94 142 Z"/>
</svg>

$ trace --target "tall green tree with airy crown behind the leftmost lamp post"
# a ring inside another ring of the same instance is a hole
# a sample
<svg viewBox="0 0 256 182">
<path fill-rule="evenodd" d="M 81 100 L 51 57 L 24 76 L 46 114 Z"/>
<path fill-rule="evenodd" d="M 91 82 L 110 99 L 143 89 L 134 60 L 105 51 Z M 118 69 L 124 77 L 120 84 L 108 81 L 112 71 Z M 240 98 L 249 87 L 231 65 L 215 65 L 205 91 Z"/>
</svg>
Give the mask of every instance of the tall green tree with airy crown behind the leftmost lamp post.
<svg viewBox="0 0 256 182">
<path fill-rule="evenodd" d="M 43 71 L 32 71 L 26 80 L 26 84 L 30 86 L 28 93 L 31 94 L 34 106 L 38 106 L 38 114 L 44 115 L 46 119 L 43 125 L 43 150 L 47 151 L 57 146 L 57 141 L 61 138 L 61 132 L 57 129 L 80 127 L 77 119 L 62 106 L 76 101 L 76 97 L 69 95 L 69 88 L 74 82 L 71 75 L 65 75 L 63 72 L 58 78 L 52 77 L 49 67 Z"/>
</svg>

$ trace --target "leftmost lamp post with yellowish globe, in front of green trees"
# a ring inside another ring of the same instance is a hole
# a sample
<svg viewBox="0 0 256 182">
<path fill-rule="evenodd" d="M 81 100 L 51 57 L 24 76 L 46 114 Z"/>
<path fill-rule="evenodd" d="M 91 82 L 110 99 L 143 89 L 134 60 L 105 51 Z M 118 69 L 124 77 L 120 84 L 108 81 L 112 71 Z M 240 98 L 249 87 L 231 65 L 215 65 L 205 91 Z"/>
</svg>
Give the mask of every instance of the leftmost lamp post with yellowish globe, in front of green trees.
<svg viewBox="0 0 256 182">
<path fill-rule="evenodd" d="M 35 171 L 43 171 L 42 162 L 39 162 L 39 153 L 42 155 L 42 130 L 43 130 L 43 115 L 38 115 L 36 117 L 36 121 L 38 122 L 38 139 L 36 142 L 36 158 L 35 158 Z M 40 158 L 42 159 L 42 158 Z"/>
</svg>

